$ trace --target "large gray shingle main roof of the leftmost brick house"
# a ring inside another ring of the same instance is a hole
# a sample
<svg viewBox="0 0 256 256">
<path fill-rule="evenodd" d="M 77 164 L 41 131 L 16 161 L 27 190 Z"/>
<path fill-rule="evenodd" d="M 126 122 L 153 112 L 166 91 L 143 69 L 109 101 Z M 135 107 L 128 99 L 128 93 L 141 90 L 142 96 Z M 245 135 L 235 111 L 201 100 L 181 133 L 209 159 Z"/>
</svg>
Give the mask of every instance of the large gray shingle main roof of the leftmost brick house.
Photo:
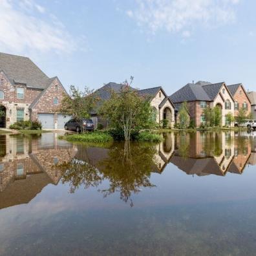
<svg viewBox="0 0 256 256">
<path fill-rule="evenodd" d="M 0 52 L 0 70 L 13 84 L 25 83 L 35 89 L 45 89 L 50 84 L 48 76 L 27 57 Z"/>
</svg>

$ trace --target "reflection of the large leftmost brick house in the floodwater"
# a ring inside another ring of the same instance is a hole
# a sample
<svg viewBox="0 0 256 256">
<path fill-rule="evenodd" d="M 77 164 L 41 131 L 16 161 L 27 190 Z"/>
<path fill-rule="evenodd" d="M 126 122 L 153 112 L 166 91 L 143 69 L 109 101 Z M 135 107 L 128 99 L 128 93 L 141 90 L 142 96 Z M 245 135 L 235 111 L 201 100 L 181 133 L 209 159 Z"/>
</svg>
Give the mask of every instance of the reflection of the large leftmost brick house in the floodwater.
<svg viewBox="0 0 256 256">
<path fill-rule="evenodd" d="M 48 184 L 58 184 L 61 173 L 56 164 L 69 162 L 76 149 L 45 133 L 36 140 L 23 136 L 1 136 L 0 209 L 25 204 Z M 3 145 L 5 149 L 3 149 Z"/>
</svg>

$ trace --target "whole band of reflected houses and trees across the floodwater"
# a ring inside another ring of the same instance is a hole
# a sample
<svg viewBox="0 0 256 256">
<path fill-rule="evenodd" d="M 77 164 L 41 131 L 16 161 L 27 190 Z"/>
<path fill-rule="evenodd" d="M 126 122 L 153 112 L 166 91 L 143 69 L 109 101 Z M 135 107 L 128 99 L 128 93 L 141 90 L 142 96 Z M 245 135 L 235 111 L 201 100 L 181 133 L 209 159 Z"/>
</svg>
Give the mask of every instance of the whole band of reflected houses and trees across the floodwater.
<svg viewBox="0 0 256 256">
<path fill-rule="evenodd" d="M 97 187 L 133 206 L 133 195 L 155 187 L 152 173 L 173 164 L 187 175 L 242 174 L 256 164 L 254 133 L 166 133 L 160 144 L 88 147 L 58 140 L 57 134 L 0 136 L 0 209 L 30 202 L 48 184 Z M 103 187 L 101 185 L 104 185 Z"/>
</svg>

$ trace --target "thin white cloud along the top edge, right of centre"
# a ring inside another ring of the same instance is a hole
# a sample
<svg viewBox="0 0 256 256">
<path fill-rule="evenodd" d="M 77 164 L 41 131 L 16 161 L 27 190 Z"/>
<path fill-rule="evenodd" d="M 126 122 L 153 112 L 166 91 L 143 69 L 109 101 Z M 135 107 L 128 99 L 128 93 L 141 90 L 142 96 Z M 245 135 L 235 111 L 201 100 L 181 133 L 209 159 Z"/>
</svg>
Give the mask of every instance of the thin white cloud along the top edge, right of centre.
<svg viewBox="0 0 256 256">
<path fill-rule="evenodd" d="M 238 4 L 239 0 L 136 0 L 135 10 L 127 15 L 153 33 L 186 31 L 186 36 L 197 25 L 215 27 L 235 21 Z"/>
</svg>

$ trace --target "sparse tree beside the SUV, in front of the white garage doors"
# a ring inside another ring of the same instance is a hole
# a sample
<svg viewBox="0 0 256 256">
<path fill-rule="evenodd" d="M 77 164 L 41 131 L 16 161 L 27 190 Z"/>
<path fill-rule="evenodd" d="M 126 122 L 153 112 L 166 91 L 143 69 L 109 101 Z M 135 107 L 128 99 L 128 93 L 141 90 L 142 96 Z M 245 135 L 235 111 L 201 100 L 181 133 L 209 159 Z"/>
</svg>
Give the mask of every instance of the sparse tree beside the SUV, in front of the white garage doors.
<svg viewBox="0 0 256 256">
<path fill-rule="evenodd" d="M 63 100 L 61 101 L 59 112 L 63 114 L 70 114 L 77 120 L 90 118 L 90 113 L 98 101 L 92 92 L 93 91 L 88 87 L 85 87 L 84 91 L 80 91 L 80 89 L 76 88 L 74 85 L 70 85 L 69 95 L 63 94 Z M 82 123 L 80 129 L 83 131 Z"/>
</svg>

